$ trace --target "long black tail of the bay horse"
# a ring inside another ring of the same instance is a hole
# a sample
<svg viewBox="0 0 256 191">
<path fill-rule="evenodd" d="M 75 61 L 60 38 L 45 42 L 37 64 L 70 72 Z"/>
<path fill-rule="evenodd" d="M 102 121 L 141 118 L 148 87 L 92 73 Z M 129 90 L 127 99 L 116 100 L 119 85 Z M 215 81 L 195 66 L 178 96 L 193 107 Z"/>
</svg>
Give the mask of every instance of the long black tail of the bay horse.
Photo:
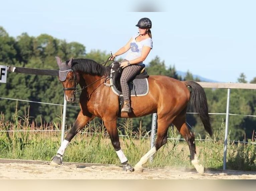
<svg viewBox="0 0 256 191">
<path fill-rule="evenodd" d="M 203 87 L 194 81 L 186 81 L 185 84 L 191 87 L 189 99 L 190 105 L 195 108 L 197 113 L 199 113 L 205 130 L 212 136 L 211 118 L 209 117 L 208 103 Z"/>
</svg>

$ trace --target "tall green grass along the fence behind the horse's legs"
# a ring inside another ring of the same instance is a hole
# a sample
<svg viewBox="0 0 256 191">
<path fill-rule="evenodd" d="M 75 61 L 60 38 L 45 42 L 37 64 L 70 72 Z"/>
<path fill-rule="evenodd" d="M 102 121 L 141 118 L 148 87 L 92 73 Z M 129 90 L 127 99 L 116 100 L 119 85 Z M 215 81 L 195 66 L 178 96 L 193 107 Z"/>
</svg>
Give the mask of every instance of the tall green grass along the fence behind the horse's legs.
<svg viewBox="0 0 256 191">
<path fill-rule="evenodd" d="M 58 120 L 60 121 L 60 120 Z M 11 121 L 5 121 L 1 113 L 0 119 L 0 158 L 28 159 L 50 161 L 60 146 L 60 131 L 33 132 L 29 130 L 59 130 L 60 123 L 52 122 L 39 127 L 25 117 L 13 115 Z M 121 148 L 131 165 L 150 149 L 149 132 L 142 130 L 141 125 L 136 132 L 132 131 L 132 119 L 127 118 L 118 124 Z M 13 130 L 15 132 L 13 132 Z M 19 131 L 23 130 L 23 131 Z M 196 140 L 197 154 L 201 163 L 208 169 L 223 168 L 224 123 L 212 138 Z M 189 149 L 176 128 L 168 130 L 167 143 L 153 156 L 153 162 L 144 166 L 174 167 L 194 169 L 189 161 Z M 197 137 L 200 138 L 200 137 Z M 256 170 L 256 142 L 253 137 L 249 143 L 232 142 L 228 137 L 227 168 L 233 170 Z M 63 160 L 66 162 L 85 162 L 116 164 L 120 161 L 113 149 L 103 124 L 92 121 L 78 133 L 69 144 Z"/>
</svg>

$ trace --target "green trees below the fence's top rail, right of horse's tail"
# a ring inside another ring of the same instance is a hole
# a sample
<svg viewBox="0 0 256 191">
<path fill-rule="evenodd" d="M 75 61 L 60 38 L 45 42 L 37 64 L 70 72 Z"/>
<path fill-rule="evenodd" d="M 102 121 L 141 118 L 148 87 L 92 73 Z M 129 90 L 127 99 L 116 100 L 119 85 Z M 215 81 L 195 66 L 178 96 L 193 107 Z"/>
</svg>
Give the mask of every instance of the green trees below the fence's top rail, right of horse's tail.
<svg viewBox="0 0 256 191">
<path fill-rule="evenodd" d="M 209 112 L 224 113 L 222 115 L 211 115 L 214 118 L 212 127 L 213 129 L 218 129 L 222 121 L 226 120 L 227 90 L 205 89 L 205 91 Z M 255 115 L 255 92 L 256 90 L 230 90 L 229 113 L 236 114 L 229 115 L 229 129 L 231 130 L 230 137 L 232 140 L 243 140 L 244 136 L 248 138 L 252 137 L 253 130 L 256 128 L 256 118 L 243 115 Z M 199 127 L 197 126 L 197 128 Z M 203 126 L 200 127 L 200 132 L 203 132 Z"/>
</svg>

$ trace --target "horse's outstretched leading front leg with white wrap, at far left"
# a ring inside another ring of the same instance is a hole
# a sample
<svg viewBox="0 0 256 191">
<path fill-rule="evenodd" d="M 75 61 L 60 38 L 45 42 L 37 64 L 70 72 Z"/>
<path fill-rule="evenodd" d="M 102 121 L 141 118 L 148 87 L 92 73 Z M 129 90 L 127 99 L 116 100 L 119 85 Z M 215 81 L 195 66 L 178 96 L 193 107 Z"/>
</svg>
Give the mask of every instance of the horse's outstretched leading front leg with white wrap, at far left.
<svg viewBox="0 0 256 191">
<path fill-rule="evenodd" d="M 73 125 L 73 127 L 70 129 L 70 131 L 68 132 L 67 136 L 65 137 L 65 139 L 62 141 L 56 156 L 53 157 L 53 159 L 51 160 L 50 165 L 51 166 L 58 166 L 60 164 L 62 164 L 62 156 L 67 148 L 67 146 L 69 145 L 71 139 L 82 129 L 85 127 L 85 125 L 87 124 L 88 121 L 90 121 L 91 119 L 93 119 L 94 116 L 92 117 L 88 117 L 85 116 L 83 114 L 82 111 L 79 112 L 78 117 L 75 121 L 75 124 Z"/>
</svg>

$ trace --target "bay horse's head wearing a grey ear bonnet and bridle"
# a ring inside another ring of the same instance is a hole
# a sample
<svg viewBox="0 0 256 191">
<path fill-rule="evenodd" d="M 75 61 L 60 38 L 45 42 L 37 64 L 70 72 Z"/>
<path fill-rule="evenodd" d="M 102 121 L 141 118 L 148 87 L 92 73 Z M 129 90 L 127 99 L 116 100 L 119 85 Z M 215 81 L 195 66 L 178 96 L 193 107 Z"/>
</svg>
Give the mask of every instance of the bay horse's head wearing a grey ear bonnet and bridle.
<svg viewBox="0 0 256 191">
<path fill-rule="evenodd" d="M 61 59 L 59 57 L 55 58 L 59 66 L 59 80 L 63 85 L 66 100 L 68 102 L 74 102 L 76 100 L 76 90 L 78 82 L 76 79 L 76 74 L 72 70 L 73 59 L 70 59 L 69 62 L 61 62 Z"/>
</svg>

